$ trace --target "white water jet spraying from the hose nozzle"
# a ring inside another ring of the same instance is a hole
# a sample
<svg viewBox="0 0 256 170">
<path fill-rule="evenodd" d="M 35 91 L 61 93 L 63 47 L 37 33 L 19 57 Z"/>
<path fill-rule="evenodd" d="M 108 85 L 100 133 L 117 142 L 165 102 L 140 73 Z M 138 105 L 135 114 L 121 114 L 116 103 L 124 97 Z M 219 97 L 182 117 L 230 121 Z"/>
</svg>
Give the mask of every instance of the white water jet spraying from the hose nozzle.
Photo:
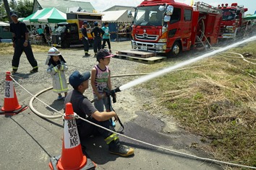
<svg viewBox="0 0 256 170">
<path fill-rule="evenodd" d="M 223 52 L 223 51 L 225 51 L 225 50 L 229 50 L 229 48 L 234 48 L 234 47 L 236 47 L 236 46 L 238 46 L 238 45 L 241 45 L 241 44 L 243 44 L 243 43 L 245 43 L 245 42 L 250 42 L 250 41 L 253 41 L 253 40 L 256 40 L 256 36 L 249 37 L 247 40 L 242 40 L 242 41 L 236 42 L 236 43 L 234 43 L 234 44 L 232 44 L 232 45 L 229 45 L 229 46 L 227 46 L 227 47 L 225 47 L 225 48 L 220 48 L 220 49 L 218 49 L 218 50 L 213 50 L 213 51 L 211 51 L 210 53 L 206 53 L 206 54 L 204 54 L 204 55 L 200 55 L 200 56 L 197 57 L 197 58 L 192 58 L 192 59 L 190 59 L 190 60 L 188 60 L 188 61 L 184 61 L 184 62 L 182 62 L 182 63 L 178 63 L 178 64 L 176 64 L 176 65 L 174 65 L 174 66 L 165 68 L 165 69 L 163 69 L 163 70 L 161 70 L 161 71 L 157 71 L 157 72 L 155 72 L 155 73 L 150 73 L 150 74 L 148 74 L 147 76 L 142 76 L 142 77 L 140 77 L 139 79 L 135 79 L 135 80 L 133 80 L 133 81 L 130 81 L 130 82 L 127 83 L 127 84 L 124 84 L 124 85 L 120 86 L 120 87 L 119 87 L 119 90 L 123 91 L 123 90 L 125 90 L 125 89 L 129 89 L 129 88 L 131 88 L 132 86 L 136 86 L 136 85 L 138 85 L 138 84 L 142 84 L 142 83 L 144 83 L 145 81 L 149 81 L 150 79 L 154 79 L 155 77 L 163 76 L 164 74 L 166 74 L 166 73 L 168 73 L 168 72 L 171 72 L 171 71 L 174 71 L 175 69 L 180 68 L 180 67 L 182 67 L 182 66 L 186 66 L 186 65 L 188 65 L 188 64 L 195 63 L 196 61 L 200 61 L 200 60 L 202 60 L 203 58 L 210 57 L 211 55 L 214 55 L 214 54 L 216 54 L 216 53 L 221 53 L 221 52 Z"/>
</svg>

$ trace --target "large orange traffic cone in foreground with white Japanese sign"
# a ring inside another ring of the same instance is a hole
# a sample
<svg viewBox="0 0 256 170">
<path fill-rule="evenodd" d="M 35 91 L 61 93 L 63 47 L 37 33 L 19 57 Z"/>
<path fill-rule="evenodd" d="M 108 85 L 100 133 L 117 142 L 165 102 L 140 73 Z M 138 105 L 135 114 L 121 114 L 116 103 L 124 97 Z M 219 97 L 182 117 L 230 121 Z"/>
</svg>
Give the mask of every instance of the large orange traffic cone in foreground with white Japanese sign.
<svg viewBox="0 0 256 170">
<path fill-rule="evenodd" d="M 64 139 L 62 140 L 61 156 L 50 159 L 49 166 L 54 169 L 95 169 L 95 164 L 90 158 L 82 154 L 77 124 L 71 103 L 66 104 L 64 116 Z"/>
</svg>

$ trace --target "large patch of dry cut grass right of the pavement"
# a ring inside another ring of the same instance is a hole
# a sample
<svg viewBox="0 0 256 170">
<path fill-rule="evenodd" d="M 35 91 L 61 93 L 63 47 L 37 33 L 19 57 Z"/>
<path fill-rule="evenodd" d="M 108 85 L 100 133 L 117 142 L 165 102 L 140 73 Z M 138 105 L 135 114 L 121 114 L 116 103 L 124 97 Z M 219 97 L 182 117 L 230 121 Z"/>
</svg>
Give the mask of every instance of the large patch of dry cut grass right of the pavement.
<svg viewBox="0 0 256 170">
<path fill-rule="evenodd" d="M 256 166 L 255 45 L 236 48 L 236 53 L 249 50 L 247 61 L 234 53 L 216 55 L 142 85 L 168 109 L 166 115 L 176 117 L 184 129 L 202 135 L 202 141 L 210 139 L 209 152 L 216 158 L 247 166 Z"/>
</svg>

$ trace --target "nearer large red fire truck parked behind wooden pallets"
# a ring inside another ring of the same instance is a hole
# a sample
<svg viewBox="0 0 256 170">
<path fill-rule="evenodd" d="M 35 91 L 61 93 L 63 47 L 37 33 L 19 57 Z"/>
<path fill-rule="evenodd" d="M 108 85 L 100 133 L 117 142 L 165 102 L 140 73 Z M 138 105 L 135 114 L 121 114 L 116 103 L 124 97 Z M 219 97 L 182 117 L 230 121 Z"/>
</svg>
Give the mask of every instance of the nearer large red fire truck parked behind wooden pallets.
<svg viewBox="0 0 256 170">
<path fill-rule="evenodd" d="M 129 12 L 131 14 L 131 12 Z M 203 2 L 145 0 L 135 9 L 132 48 L 167 56 L 218 42 L 221 9 Z"/>
</svg>

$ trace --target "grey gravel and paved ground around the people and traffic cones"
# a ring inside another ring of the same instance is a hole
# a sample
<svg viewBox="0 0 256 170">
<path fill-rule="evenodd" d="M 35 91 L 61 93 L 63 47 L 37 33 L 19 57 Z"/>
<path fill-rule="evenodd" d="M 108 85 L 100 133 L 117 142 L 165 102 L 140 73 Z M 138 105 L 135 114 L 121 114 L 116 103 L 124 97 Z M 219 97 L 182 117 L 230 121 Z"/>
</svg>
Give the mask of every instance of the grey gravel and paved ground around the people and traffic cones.
<svg viewBox="0 0 256 170">
<path fill-rule="evenodd" d="M 129 41 L 111 42 L 111 46 L 114 53 L 117 50 L 129 50 L 131 48 Z M 82 48 L 59 48 L 59 50 L 67 61 L 67 66 L 69 66 L 69 70 L 66 73 L 67 77 L 76 70 L 80 72 L 90 71 L 98 63 L 93 56 L 88 58 L 82 57 Z M 92 49 L 90 49 L 90 53 L 93 53 Z M 38 61 L 38 73 L 29 73 L 31 66 L 25 58 L 25 54 L 22 54 L 20 67 L 18 73 L 14 75 L 14 79 L 27 91 L 30 91 L 30 93 L 37 94 L 39 91 L 52 85 L 51 77 L 46 73 L 47 66 L 45 61 L 47 51 L 45 53 L 34 53 L 34 55 Z M 0 91 L 2 91 L 0 105 L 3 105 L 5 73 L 12 71 L 12 55 L 1 55 L 0 58 Z M 150 67 L 150 65 L 145 63 L 137 63 L 119 58 L 112 58 L 109 65 L 112 75 L 138 73 L 140 66 Z M 112 86 L 116 88 L 137 78 L 139 76 L 113 78 Z M 29 104 L 30 94 L 17 84 L 14 86 L 19 103 Z M 71 86 L 69 88 L 71 89 Z M 85 95 L 92 99 L 92 89 L 89 88 L 85 91 Z M 125 89 L 116 95 L 117 102 L 113 104 L 113 107 L 124 124 L 125 135 L 132 138 L 140 138 L 158 146 L 182 150 L 185 153 L 192 153 L 197 156 L 209 157 L 208 153 L 191 147 L 192 143 L 197 143 L 198 148 L 207 147 L 200 142 L 200 137 L 185 132 L 176 125 L 176 122 L 171 117 L 162 115 L 161 110 L 164 108 L 155 104 L 155 99 L 149 91 L 137 86 Z M 62 112 L 64 102 L 57 101 L 56 97 L 57 94 L 54 94 L 53 91 L 47 91 L 38 96 L 38 98 L 46 102 L 48 106 L 37 100 L 33 102 L 33 106 L 44 115 L 56 114 L 49 107 L 54 107 L 54 109 Z M 149 105 L 151 109 L 145 110 L 144 104 Z M 4 160 L 0 162 L 0 169 L 16 169 L 17 164 L 20 165 L 20 169 L 46 169 L 49 157 L 58 156 L 60 153 L 60 139 L 63 133 L 62 123 L 61 119 L 40 119 L 30 109 L 26 109 L 19 115 L 11 117 L 11 119 L 0 117 L 0 135 L 6 137 L 0 138 L 0 153 L 4 155 Z M 9 128 L 11 125 L 12 128 Z M 116 129 L 119 127 L 120 125 L 116 123 Z M 33 141 L 30 141 L 30 139 L 33 139 Z M 121 137 L 121 140 L 124 143 L 132 143 L 123 137 Z M 15 145 L 12 145 L 9 141 L 13 141 Z M 27 146 L 27 143 L 30 145 Z M 98 164 L 98 169 L 170 169 L 170 162 L 172 162 L 171 169 L 219 169 L 219 167 L 213 164 L 205 164 L 191 158 L 187 159 L 186 156 L 177 157 L 175 154 L 167 154 L 165 151 L 151 151 L 152 148 L 149 150 L 143 149 L 143 145 L 139 143 L 133 143 L 135 148 L 137 148 L 134 157 L 129 159 L 119 158 L 111 156 L 105 151 L 102 152 L 102 149 L 107 150 L 104 145 L 101 144 L 101 146 L 95 147 L 97 144 L 93 143 L 93 146 L 88 147 L 89 155 Z M 90 149 L 93 149 L 93 151 Z M 114 161 L 116 159 L 119 161 Z M 108 164 L 108 162 L 111 164 Z M 14 165 L 10 166 L 13 163 Z"/>
</svg>

